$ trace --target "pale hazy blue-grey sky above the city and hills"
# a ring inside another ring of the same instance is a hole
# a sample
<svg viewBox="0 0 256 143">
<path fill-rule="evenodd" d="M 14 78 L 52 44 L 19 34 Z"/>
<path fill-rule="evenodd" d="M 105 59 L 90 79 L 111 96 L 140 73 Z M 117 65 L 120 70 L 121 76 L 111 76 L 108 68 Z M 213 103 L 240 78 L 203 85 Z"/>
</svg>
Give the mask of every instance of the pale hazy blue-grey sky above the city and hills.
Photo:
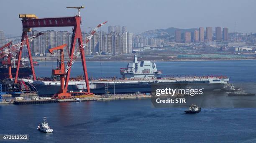
<svg viewBox="0 0 256 143">
<path fill-rule="evenodd" d="M 236 22 L 236 31 L 256 33 L 256 0 L 0 0 L 0 30 L 21 35 L 19 13 L 73 16 L 77 10 L 65 7 L 81 5 L 85 6 L 81 10 L 83 31 L 108 21 L 102 30 L 109 25 L 125 25 L 128 31 L 140 33 L 168 27 L 223 27 L 225 23 L 233 32 Z M 55 30 L 71 31 L 71 27 Z"/>
</svg>

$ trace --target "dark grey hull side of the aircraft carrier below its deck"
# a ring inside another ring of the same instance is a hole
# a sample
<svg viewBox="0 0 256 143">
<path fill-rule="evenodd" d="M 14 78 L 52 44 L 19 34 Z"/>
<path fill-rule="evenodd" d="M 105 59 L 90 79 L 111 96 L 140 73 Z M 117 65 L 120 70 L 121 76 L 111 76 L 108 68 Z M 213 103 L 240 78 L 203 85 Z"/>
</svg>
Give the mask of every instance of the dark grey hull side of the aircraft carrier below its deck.
<svg viewBox="0 0 256 143">
<path fill-rule="evenodd" d="M 209 83 L 209 82 L 172 82 L 172 83 L 164 83 L 168 85 L 168 87 L 180 88 L 180 89 L 203 89 L 204 91 L 211 91 L 216 89 L 222 89 L 224 83 Z M 60 85 L 43 85 L 43 84 L 32 84 L 34 88 L 38 91 L 38 95 L 53 95 L 56 94 L 59 89 Z M 123 93 L 135 93 L 140 91 L 141 93 L 149 93 L 159 86 L 161 83 L 147 83 L 147 82 L 138 82 L 138 83 L 122 83 L 122 84 L 108 84 L 108 92 L 110 94 L 123 94 Z M 81 85 L 69 85 L 68 91 L 86 91 L 86 86 Z M 95 94 L 104 94 L 105 93 L 105 84 L 96 83 L 95 86 L 90 86 L 90 91 Z"/>
</svg>

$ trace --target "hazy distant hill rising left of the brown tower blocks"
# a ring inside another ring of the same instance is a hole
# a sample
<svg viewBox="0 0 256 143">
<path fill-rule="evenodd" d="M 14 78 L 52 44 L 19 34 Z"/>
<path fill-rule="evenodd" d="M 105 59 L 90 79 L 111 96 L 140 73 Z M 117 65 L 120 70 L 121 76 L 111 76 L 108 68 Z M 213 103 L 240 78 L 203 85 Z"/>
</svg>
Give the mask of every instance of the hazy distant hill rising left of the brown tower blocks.
<svg viewBox="0 0 256 143">
<path fill-rule="evenodd" d="M 146 37 L 174 36 L 175 35 L 175 30 L 181 30 L 182 33 L 184 33 L 186 31 L 187 32 L 194 32 L 195 30 L 197 30 L 197 28 L 179 29 L 179 28 L 170 27 L 170 28 L 167 28 L 167 29 L 149 30 L 149 31 L 146 31 L 146 32 L 142 32 L 141 35 L 146 36 Z"/>
</svg>

